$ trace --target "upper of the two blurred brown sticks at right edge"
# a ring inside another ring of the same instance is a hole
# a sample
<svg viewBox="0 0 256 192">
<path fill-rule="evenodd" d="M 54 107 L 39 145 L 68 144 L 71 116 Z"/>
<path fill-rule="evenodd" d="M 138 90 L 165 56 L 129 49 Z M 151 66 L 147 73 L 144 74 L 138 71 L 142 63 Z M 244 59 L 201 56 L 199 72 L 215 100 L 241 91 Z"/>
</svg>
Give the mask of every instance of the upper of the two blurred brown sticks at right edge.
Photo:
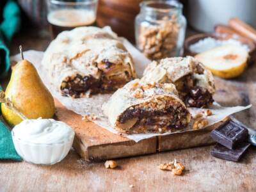
<svg viewBox="0 0 256 192">
<path fill-rule="evenodd" d="M 245 22 L 237 18 L 232 18 L 228 21 L 228 26 L 237 31 L 237 33 L 239 33 L 241 36 L 246 36 L 256 43 L 256 30 Z"/>
</svg>

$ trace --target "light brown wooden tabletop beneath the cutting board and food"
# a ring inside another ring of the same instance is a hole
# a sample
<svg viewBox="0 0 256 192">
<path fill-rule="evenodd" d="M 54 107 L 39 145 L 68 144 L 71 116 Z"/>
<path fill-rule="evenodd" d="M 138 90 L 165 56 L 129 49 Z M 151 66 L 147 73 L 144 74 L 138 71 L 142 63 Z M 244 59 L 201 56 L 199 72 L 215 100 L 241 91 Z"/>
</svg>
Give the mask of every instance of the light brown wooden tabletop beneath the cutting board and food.
<svg viewBox="0 0 256 192">
<path fill-rule="evenodd" d="M 13 54 L 24 50 L 44 51 L 49 44 L 45 31 L 23 31 L 15 36 Z M 243 76 L 224 81 L 216 78 L 216 99 L 223 106 L 253 104 L 236 117 L 256 127 L 256 65 Z M 2 82 L 3 84 L 3 82 Z M 61 163 L 36 166 L 26 162 L 0 162 L 0 191 L 255 191 L 256 148 L 239 163 L 216 159 L 212 146 L 118 159 L 119 167 L 107 170 L 104 163 L 83 161 L 74 150 Z M 182 176 L 159 170 L 157 164 L 177 159 L 186 166 Z"/>
</svg>

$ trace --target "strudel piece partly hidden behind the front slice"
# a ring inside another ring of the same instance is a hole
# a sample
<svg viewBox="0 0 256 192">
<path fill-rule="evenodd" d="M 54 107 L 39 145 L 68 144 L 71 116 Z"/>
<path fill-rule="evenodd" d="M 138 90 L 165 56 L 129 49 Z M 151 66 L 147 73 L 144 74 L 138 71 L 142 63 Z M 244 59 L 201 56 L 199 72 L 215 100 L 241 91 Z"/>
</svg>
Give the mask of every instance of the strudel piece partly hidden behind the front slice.
<svg viewBox="0 0 256 192">
<path fill-rule="evenodd" d="M 211 106 L 214 79 L 204 65 L 191 56 L 152 61 L 143 73 L 143 81 L 175 84 L 187 107 Z"/>
</svg>

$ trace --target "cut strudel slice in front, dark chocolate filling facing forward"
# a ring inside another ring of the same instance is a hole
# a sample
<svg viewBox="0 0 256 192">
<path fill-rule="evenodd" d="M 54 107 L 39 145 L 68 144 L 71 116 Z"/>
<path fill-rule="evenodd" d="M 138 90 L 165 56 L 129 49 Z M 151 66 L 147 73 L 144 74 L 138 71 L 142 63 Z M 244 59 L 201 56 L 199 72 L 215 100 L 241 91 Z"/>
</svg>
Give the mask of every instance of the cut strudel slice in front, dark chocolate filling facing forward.
<svg viewBox="0 0 256 192">
<path fill-rule="evenodd" d="M 119 132 L 172 132 L 184 129 L 190 114 L 174 84 L 145 83 L 139 79 L 118 89 L 102 109 Z"/>
</svg>

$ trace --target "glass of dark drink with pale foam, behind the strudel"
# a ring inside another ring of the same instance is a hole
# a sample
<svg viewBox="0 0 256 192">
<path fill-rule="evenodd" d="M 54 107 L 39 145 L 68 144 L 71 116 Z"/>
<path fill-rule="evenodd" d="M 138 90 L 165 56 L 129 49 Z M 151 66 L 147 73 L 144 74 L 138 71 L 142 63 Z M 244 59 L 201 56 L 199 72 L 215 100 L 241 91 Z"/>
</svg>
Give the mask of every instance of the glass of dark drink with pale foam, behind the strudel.
<svg viewBox="0 0 256 192">
<path fill-rule="evenodd" d="M 52 39 L 61 31 L 95 26 L 98 0 L 47 0 L 47 20 Z"/>
</svg>

